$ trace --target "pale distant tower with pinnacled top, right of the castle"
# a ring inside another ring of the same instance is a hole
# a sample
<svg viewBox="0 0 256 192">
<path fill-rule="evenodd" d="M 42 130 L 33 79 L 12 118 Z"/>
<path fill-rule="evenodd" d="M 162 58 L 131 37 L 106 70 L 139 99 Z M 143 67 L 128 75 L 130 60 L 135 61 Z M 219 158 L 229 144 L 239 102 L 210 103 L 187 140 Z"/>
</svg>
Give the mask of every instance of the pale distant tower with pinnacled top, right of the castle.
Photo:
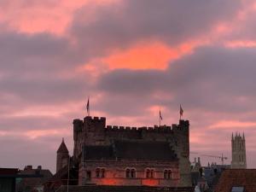
<svg viewBox="0 0 256 192">
<path fill-rule="evenodd" d="M 244 133 L 242 137 L 240 133 L 234 138 L 232 133 L 231 138 L 232 144 L 232 162 L 231 168 L 232 169 L 246 169 L 247 168 L 247 154 L 246 154 L 246 143 Z"/>
</svg>

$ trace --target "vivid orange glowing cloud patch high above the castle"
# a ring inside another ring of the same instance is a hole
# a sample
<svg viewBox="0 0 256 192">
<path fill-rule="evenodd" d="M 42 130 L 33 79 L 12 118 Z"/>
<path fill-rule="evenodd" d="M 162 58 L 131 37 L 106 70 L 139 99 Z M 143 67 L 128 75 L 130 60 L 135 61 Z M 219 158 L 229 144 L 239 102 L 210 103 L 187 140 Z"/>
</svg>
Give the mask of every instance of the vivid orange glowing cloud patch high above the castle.
<svg viewBox="0 0 256 192">
<path fill-rule="evenodd" d="M 170 47 L 167 44 L 155 42 L 152 44 L 137 44 L 129 49 L 115 51 L 102 61 L 110 69 L 159 69 L 164 70 L 170 61 L 192 52 L 195 42 Z"/>
</svg>

